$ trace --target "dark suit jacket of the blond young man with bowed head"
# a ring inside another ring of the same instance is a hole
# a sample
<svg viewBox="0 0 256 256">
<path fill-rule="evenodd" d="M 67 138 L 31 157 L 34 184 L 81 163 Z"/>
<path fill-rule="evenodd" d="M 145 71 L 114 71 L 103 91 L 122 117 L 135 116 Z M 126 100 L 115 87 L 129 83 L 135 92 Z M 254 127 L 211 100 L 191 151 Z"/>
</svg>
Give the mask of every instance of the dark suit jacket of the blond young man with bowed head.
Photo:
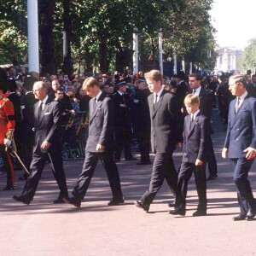
<svg viewBox="0 0 256 256">
<path fill-rule="evenodd" d="M 99 97 L 95 107 L 94 99 L 89 102 L 89 137 L 86 143 L 87 152 L 105 152 L 113 150 L 113 101 L 104 93 Z M 96 145 L 104 149 L 96 151 Z"/>
</svg>

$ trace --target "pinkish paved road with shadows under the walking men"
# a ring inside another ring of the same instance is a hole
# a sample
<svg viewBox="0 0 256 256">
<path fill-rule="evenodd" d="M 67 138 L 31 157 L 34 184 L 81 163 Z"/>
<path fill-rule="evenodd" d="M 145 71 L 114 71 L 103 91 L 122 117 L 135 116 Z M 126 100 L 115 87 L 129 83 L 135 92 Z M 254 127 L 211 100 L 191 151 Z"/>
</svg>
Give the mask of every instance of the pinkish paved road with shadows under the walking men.
<svg viewBox="0 0 256 256">
<path fill-rule="evenodd" d="M 186 217 L 168 214 L 172 199 L 166 184 L 160 189 L 147 214 L 133 205 L 148 188 L 151 166 L 119 162 L 125 204 L 108 207 L 111 198 L 107 177 L 97 166 L 82 207 L 53 205 L 58 195 L 49 167 L 44 170 L 38 192 L 30 206 L 21 206 L 1 191 L 0 255 L 254 255 L 256 222 L 234 222 L 239 211 L 236 188 L 228 160 L 221 158 L 224 127 L 214 119 L 214 148 L 218 159 L 218 180 L 207 183 L 208 215 L 192 217 L 197 204 L 195 183 L 189 183 Z M 180 164 L 181 149 L 175 153 Z M 152 155 L 152 159 L 154 156 Z M 65 163 L 68 188 L 73 189 L 82 161 Z M 256 189 L 254 163 L 250 180 Z M 19 177 L 16 172 L 16 177 Z M 0 189 L 5 177 L 0 176 Z"/>
</svg>

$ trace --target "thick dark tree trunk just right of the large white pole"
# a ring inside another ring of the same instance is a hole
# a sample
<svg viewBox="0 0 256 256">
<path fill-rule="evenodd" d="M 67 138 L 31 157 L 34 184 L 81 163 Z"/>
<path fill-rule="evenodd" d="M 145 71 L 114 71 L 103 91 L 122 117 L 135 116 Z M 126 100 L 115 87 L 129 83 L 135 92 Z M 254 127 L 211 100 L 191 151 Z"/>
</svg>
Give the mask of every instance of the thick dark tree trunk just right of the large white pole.
<svg viewBox="0 0 256 256">
<path fill-rule="evenodd" d="M 42 73 L 55 73 L 55 40 L 53 34 L 54 0 L 40 1 L 41 24 L 39 33 L 41 36 L 41 65 Z"/>
</svg>

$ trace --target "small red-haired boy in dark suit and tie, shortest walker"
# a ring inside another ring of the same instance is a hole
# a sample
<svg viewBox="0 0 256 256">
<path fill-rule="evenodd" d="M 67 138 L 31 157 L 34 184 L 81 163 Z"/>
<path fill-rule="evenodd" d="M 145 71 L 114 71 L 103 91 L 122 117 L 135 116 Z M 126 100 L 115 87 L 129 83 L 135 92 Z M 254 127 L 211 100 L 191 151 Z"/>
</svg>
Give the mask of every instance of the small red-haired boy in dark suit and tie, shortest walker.
<svg viewBox="0 0 256 256">
<path fill-rule="evenodd" d="M 169 213 L 182 216 L 186 214 L 188 183 L 194 172 L 199 204 L 193 216 L 204 216 L 207 215 L 206 154 L 207 141 L 210 138 L 210 124 L 207 117 L 200 113 L 199 96 L 189 94 L 185 97 L 184 104 L 189 115 L 184 119 L 183 160 L 177 181 L 181 201 L 179 207 Z"/>
</svg>

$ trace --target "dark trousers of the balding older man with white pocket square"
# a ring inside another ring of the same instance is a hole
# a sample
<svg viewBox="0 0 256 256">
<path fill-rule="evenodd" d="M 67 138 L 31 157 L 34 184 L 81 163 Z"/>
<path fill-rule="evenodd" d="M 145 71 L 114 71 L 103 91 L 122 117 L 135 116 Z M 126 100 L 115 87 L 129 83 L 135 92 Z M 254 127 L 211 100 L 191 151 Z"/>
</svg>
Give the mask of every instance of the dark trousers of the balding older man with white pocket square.
<svg viewBox="0 0 256 256">
<path fill-rule="evenodd" d="M 58 198 L 62 199 L 68 196 L 66 176 L 63 170 L 62 154 L 60 148 L 54 152 L 49 150 L 49 154 L 41 152 L 32 154 L 32 163 L 30 166 L 31 173 L 26 179 L 26 184 L 21 195 L 24 200 L 33 200 L 33 197 L 38 188 L 39 179 L 41 178 L 42 172 L 44 170 L 46 160 L 49 160 L 52 165 L 52 172 L 60 189 Z"/>
</svg>

